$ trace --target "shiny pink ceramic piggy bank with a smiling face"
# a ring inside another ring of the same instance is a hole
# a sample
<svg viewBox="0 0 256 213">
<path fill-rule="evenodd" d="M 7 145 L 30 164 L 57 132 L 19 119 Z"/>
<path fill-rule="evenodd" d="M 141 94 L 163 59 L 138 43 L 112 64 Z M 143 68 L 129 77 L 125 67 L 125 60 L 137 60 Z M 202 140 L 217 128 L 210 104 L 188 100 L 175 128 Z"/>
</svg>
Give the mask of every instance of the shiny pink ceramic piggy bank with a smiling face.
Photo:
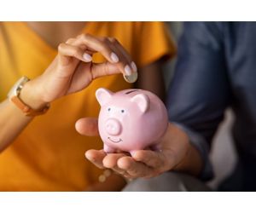
<svg viewBox="0 0 256 213">
<path fill-rule="evenodd" d="M 160 98 L 142 89 L 113 93 L 100 88 L 96 99 L 102 107 L 98 128 L 105 153 L 158 148 L 157 141 L 168 125 L 166 107 Z"/>
</svg>

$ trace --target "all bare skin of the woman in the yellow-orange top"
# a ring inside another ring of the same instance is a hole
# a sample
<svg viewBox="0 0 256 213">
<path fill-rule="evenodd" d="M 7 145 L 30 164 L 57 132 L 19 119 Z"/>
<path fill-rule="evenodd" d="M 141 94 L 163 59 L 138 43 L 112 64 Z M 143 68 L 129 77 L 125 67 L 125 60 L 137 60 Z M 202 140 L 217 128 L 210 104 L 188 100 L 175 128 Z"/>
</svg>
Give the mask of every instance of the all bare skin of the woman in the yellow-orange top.
<svg viewBox="0 0 256 213">
<path fill-rule="evenodd" d="M 124 73 L 125 66 L 131 65 L 131 56 L 128 55 L 125 52 L 125 49 L 117 44 L 113 39 L 111 39 L 112 41 L 109 43 L 106 37 L 99 38 L 89 36 L 92 39 L 87 37 L 86 41 L 84 40 L 86 37 L 84 37 L 84 35 L 76 37 L 81 29 L 84 28 L 85 24 L 86 23 L 84 22 L 27 23 L 27 25 L 30 26 L 34 32 L 38 33 L 46 43 L 49 43 L 53 48 L 58 49 L 58 55 L 46 71 L 38 78 L 34 78 L 29 83 L 26 83 L 22 89 L 20 98 L 28 106 L 35 110 L 41 109 L 44 107 L 46 102 L 55 101 L 63 95 L 68 95 L 86 88 L 94 78 L 99 78 L 107 74 Z M 55 33 L 55 31 L 61 33 Z M 70 37 L 73 38 L 69 39 Z M 116 44 L 113 45 L 113 43 Z M 107 58 L 107 64 L 104 63 L 100 66 L 93 66 L 91 68 L 88 66 L 90 61 L 88 61 L 88 57 L 86 57 L 87 60 L 84 60 L 83 50 L 91 45 L 96 46 L 94 46 L 94 49 L 92 48 L 90 51 L 85 52 L 91 55 L 94 51 L 98 51 L 97 48 L 100 47 L 101 50 L 99 52 Z M 118 47 L 115 45 L 118 45 Z M 119 49 L 118 53 L 115 53 L 119 58 L 118 63 L 111 60 L 111 53 L 109 51 L 110 46 L 112 48 L 114 46 L 115 49 Z M 82 61 L 88 64 L 84 65 Z M 163 86 L 163 78 L 160 74 L 161 64 L 162 62 L 158 60 L 148 66 L 139 67 L 139 78 L 136 83 L 136 87 L 148 89 L 163 99 L 165 96 L 165 89 Z M 76 68 L 74 68 L 75 66 Z M 132 70 L 132 72 L 134 72 L 134 70 Z M 75 78 L 71 78 L 71 76 L 74 76 Z M 80 77 L 84 79 L 83 82 L 79 80 Z M 53 82 L 55 81 L 57 82 L 58 87 L 56 89 L 54 85 L 54 89 L 51 89 L 53 87 Z M 20 112 L 20 109 L 15 107 L 13 103 L 8 100 L 1 102 L 0 152 L 3 152 L 6 147 L 9 147 L 31 121 L 32 118 L 26 117 L 22 112 Z M 119 181 L 119 184 L 116 184 L 117 181 Z M 118 191 L 124 185 L 125 181 L 122 177 L 113 175 L 111 178 L 108 178 L 108 181 L 101 183 L 99 186 L 90 187 L 90 190 Z"/>
</svg>

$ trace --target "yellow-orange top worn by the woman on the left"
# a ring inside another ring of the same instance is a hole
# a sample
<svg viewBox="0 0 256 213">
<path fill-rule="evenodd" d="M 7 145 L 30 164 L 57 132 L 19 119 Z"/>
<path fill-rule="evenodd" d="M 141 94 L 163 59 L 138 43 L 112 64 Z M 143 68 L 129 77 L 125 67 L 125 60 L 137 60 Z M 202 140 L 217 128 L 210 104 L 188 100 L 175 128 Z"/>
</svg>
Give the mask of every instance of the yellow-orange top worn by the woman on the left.
<svg viewBox="0 0 256 213">
<path fill-rule="evenodd" d="M 160 22 L 89 22 L 83 32 L 116 37 L 137 66 L 175 52 Z M 0 101 L 21 76 L 42 74 L 56 53 L 26 23 L 0 22 Z M 103 59 L 95 55 L 93 60 Z M 82 117 L 97 117 L 99 87 L 117 91 L 132 84 L 121 74 L 99 78 L 87 89 L 54 101 L 49 112 L 34 118 L 0 154 L 1 191 L 80 191 L 97 181 L 102 171 L 84 158 L 84 152 L 102 148 L 102 141 L 79 135 L 74 124 Z"/>
</svg>

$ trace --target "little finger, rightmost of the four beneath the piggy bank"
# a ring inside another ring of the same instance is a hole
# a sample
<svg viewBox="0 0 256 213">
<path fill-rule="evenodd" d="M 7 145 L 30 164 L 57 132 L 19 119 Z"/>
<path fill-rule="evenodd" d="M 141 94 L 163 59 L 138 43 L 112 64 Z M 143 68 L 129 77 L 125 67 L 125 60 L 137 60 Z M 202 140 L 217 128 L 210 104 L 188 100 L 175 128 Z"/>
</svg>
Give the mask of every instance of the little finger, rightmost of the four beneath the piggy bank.
<svg viewBox="0 0 256 213">
<path fill-rule="evenodd" d="M 132 153 L 132 158 L 153 168 L 160 168 L 166 162 L 166 158 L 162 152 L 154 152 L 151 150 L 134 151 Z"/>
</svg>

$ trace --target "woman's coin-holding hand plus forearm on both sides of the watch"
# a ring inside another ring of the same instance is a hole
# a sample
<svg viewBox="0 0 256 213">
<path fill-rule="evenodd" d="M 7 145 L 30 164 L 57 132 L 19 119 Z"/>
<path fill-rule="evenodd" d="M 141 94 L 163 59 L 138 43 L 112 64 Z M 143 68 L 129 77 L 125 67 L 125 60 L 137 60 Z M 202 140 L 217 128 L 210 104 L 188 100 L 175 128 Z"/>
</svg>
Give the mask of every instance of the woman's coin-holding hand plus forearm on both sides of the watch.
<svg viewBox="0 0 256 213">
<path fill-rule="evenodd" d="M 58 55 L 46 71 L 25 84 L 20 99 L 33 109 L 40 110 L 47 103 L 86 88 L 93 79 L 125 73 L 127 67 L 131 70 L 131 57 L 116 49 L 125 51 L 116 40 L 108 40 L 108 37 L 82 34 L 68 39 L 58 46 Z M 92 63 L 91 55 L 95 52 L 100 52 L 108 61 Z M 31 120 L 12 103 L 3 101 L 0 105 L 0 124 L 3 124 L 0 130 L 0 150 L 8 147 Z"/>
</svg>

